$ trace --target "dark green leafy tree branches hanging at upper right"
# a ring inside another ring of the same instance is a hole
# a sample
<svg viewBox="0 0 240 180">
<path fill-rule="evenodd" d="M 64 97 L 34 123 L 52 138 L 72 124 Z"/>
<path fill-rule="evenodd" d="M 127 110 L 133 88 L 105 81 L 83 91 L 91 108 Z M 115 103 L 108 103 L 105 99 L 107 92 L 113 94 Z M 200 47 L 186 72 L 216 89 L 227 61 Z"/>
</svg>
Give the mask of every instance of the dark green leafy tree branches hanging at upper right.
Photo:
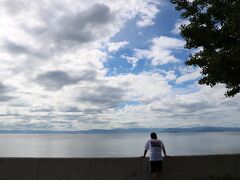
<svg viewBox="0 0 240 180">
<path fill-rule="evenodd" d="M 185 48 L 196 48 L 186 64 L 199 66 L 199 84 L 226 85 L 226 96 L 240 92 L 240 0 L 171 0 L 181 18 Z"/>
</svg>

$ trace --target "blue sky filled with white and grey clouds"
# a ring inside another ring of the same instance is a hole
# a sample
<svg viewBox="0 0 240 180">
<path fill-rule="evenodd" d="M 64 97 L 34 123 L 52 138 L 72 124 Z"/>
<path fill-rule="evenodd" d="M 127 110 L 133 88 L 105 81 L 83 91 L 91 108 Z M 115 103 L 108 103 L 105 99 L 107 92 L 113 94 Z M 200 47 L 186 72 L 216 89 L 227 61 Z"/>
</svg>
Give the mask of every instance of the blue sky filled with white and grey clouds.
<svg viewBox="0 0 240 180">
<path fill-rule="evenodd" d="M 0 0 L 0 130 L 240 127 L 167 0 Z"/>
</svg>

